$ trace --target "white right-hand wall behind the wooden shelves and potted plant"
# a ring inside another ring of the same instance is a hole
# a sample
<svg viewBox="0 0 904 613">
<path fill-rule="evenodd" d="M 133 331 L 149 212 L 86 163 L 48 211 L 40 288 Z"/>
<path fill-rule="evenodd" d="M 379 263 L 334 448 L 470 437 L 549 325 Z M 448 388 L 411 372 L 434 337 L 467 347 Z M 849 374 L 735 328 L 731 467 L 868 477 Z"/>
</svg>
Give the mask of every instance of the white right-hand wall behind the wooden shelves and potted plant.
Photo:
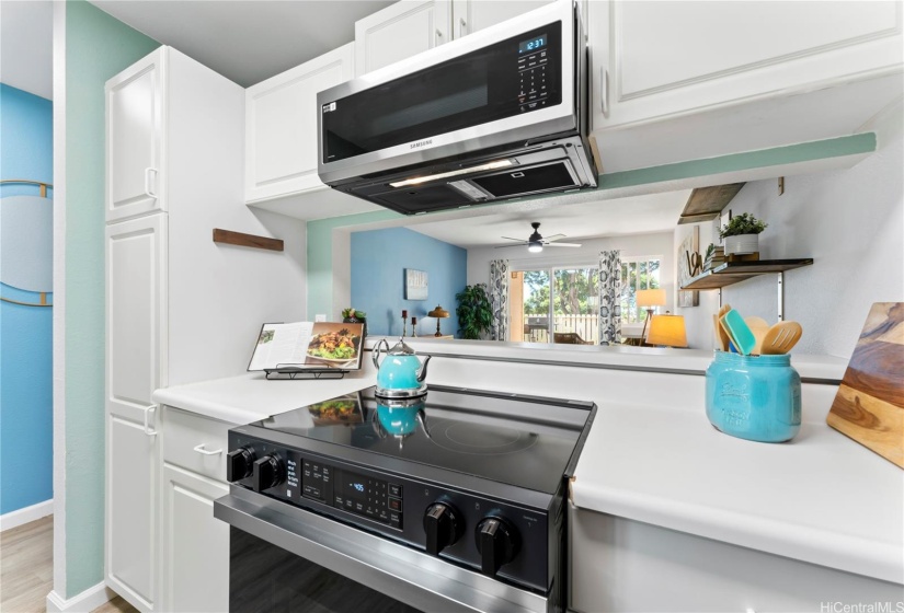
<svg viewBox="0 0 904 613">
<path fill-rule="evenodd" d="M 849 358 L 873 302 L 904 301 L 904 160 L 901 106 L 877 127 L 877 153 L 847 170 L 748 183 L 731 201 L 769 227 L 760 258 L 812 257 L 812 266 L 785 274 L 785 319 L 803 326 L 797 354 Z M 675 232 L 675 248 L 684 238 Z M 700 247 L 709 241 L 701 228 Z M 777 319 L 777 278 L 764 275 L 723 290 L 743 315 Z M 701 291 L 700 307 L 679 309 L 688 342 L 712 347 L 718 291 Z"/>
</svg>

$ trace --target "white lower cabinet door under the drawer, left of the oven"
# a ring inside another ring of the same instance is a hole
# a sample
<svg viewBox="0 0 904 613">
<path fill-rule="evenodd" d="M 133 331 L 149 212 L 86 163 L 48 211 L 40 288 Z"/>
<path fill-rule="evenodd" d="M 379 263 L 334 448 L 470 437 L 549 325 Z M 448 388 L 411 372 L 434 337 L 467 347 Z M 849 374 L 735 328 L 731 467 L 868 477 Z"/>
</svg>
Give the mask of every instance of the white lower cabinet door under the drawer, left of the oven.
<svg viewBox="0 0 904 613">
<path fill-rule="evenodd" d="M 222 483 L 163 464 L 163 611 L 229 610 L 229 524 L 214 517 L 214 500 L 227 494 Z"/>
</svg>

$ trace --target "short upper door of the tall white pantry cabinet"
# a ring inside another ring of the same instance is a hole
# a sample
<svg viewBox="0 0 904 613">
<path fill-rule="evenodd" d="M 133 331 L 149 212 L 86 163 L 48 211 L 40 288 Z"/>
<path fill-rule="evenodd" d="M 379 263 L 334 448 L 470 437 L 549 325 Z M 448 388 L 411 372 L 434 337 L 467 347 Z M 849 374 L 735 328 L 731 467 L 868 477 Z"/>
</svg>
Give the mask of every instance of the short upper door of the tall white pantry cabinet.
<svg viewBox="0 0 904 613">
<path fill-rule="evenodd" d="M 161 47 L 106 82 L 106 220 L 167 210 L 165 54 Z"/>
</svg>

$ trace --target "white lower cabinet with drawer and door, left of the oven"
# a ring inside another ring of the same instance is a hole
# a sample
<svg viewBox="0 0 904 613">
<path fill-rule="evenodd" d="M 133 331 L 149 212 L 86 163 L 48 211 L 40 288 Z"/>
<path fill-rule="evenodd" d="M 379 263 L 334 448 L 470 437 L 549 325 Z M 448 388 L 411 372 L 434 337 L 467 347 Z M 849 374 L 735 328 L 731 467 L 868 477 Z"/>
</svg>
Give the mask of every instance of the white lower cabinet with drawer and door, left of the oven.
<svg viewBox="0 0 904 613">
<path fill-rule="evenodd" d="M 214 500 L 229 493 L 225 459 L 229 424 L 162 407 L 160 610 L 229 610 L 229 525 Z"/>
</svg>

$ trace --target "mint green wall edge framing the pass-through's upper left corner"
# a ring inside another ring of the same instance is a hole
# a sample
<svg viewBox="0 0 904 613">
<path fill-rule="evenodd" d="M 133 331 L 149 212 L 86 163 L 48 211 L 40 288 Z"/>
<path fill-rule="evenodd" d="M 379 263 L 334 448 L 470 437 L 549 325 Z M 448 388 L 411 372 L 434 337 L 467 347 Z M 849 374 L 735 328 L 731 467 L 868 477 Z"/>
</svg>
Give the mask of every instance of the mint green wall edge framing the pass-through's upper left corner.
<svg viewBox="0 0 904 613">
<path fill-rule="evenodd" d="M 381 210 L 317 219 L 307 223 L 309 320 L 313 321 L 318 313 L 324 313 L 328 320 L 339 316 L 339 313 L 333 313 L 333 230 L 389 221 L 400 217 L 403 216 L 390 210 Z"/>
</svg>

